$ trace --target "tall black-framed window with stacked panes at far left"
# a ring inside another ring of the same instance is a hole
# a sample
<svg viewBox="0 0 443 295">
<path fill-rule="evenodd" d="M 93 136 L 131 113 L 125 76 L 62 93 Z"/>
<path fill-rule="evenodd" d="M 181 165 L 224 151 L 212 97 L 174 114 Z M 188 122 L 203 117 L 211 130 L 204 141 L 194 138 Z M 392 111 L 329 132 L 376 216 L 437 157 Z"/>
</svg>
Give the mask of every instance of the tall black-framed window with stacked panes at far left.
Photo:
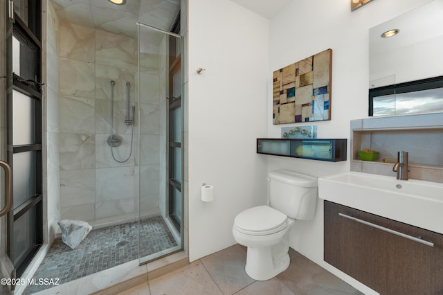
<svg viewBox="0 0 443 295">
<path fill-rule="evenodd" d="M 19 0 L 8 50 L 12 91 L 7 99 L 12 210 L 8 255 L 21 276 L 43 242 L 41 1 Z"/>
</svg>

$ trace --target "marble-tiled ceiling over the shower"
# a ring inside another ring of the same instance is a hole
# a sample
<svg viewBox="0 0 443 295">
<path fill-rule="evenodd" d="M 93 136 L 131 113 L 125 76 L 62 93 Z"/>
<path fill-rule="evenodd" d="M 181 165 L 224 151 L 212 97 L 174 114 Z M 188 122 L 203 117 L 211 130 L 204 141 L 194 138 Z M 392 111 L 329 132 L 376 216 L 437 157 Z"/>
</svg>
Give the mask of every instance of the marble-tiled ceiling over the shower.
<svg viewBox="0 0 443 295">
<path fill-rule="evenodd" d="M 136 35 L 136 22 L 170 31 L 180 0 L 128 0 L 119 6 L 107 0 L 51 0 L 62 21 L 102 28 L 111 33 Z"/>
</svg>

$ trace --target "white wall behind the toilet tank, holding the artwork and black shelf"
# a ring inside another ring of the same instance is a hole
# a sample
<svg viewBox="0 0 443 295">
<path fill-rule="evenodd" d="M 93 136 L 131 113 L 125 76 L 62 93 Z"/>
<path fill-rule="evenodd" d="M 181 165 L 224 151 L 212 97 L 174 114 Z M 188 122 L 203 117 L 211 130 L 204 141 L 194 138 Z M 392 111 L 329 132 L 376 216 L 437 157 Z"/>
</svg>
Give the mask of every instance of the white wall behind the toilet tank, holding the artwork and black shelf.
<svg viewBox="0 0 443 295">
<path fill-rule="evenodd" d="M 348 138 L 347 159 L 350 159 L 350 120 L 368 116 L 369 28 L 427 2 L 373 1 L 351 12 L 349 1 L 291 1 L 271 19 L 269 73 L 332 48 L 332 120 L 313 124 L 318 126 L 319 138 Z M 271 74 L 268 78 L 267 135 L 278 137 L 284 125 L 272 125 Z M 329 163 L 269 157 L 268 171 L 276 168 L 321 177 L 350 170 L 350 161 Z M 371 294 L 369 289 L 323 261 L 323 202 L 318 199 L 317 204 L 314 220 L 296 222 L 291 232 L 291 247 L 365 294 Z"/>
</svg>

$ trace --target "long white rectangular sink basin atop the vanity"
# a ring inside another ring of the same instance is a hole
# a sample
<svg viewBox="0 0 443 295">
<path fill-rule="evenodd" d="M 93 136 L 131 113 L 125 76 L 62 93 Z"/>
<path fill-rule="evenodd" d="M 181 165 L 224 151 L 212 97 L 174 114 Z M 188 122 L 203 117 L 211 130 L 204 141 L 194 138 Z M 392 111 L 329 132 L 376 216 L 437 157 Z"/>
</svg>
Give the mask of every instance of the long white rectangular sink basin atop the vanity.
<svg viewBox="0 0 443 295">
<path fill-rule="evenodd" d="M 443 184 L 347 172 L 318 179 L 320 199 L 443 234 Z"/>
</svg>

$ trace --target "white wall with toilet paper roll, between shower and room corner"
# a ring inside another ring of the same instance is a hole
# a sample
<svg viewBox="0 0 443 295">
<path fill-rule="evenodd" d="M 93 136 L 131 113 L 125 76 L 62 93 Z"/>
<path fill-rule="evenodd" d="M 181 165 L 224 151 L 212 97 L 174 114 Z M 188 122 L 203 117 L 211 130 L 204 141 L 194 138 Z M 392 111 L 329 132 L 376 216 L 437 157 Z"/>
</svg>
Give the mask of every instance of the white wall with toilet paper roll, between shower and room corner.
<svg viewBox="0 0 443 295">
<path fill-rule="evenodd" d="M 230 0 L 188 1 L 189 257 L 235 240 L 235 215 L 266 202 L 269 21 Z M 201 75 L 197 68 L 204 68 Z M 201 202 L 201 184 L 215 186 Z"/>
</svg>

